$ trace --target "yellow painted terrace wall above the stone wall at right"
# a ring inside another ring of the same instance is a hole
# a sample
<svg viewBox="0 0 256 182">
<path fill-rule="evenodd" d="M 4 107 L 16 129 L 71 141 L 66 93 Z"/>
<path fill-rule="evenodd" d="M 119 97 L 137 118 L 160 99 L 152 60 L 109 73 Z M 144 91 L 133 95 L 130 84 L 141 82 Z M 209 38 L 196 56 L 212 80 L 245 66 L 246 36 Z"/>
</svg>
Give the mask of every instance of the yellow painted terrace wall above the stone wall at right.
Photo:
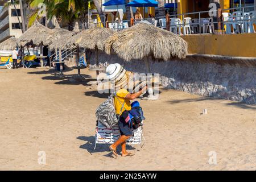
<svg viewBox="0 0 256 182">
<path fill-rule="evenodd" d="M 256 57 L 256 34 L 186 35 L 188 52 L 207 55 Z"/>
</svg>

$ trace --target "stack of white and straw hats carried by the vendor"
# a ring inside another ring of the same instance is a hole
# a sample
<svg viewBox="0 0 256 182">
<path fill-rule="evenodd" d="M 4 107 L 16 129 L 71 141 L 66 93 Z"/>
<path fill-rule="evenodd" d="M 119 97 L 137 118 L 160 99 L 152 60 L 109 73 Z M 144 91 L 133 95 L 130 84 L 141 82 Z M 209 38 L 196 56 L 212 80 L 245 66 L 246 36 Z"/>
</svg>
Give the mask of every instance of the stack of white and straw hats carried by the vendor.
<svg viewBox="0 0 256 182">
<path fill-rule="evenodd" d="M 120 64 L 110 64 L 106 68 L 106 76 L 109 81 L 114 85 L 115 90 L 129 89 L 129 92 L 136 93 L 143 89 L 145 86 L 154 86 L 154 77 L 147 80 L 147 77 L 136 75 L 135 73 L 126 71 Z"/>
</svg>

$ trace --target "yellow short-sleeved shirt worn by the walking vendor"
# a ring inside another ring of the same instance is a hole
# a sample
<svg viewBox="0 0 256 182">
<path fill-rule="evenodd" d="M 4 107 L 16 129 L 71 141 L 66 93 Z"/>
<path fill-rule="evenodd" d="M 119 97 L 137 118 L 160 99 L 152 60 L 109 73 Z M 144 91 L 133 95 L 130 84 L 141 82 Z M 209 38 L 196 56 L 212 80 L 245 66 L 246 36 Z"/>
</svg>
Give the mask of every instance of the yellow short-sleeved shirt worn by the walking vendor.
<svg viewBox="0 0 256 182">
<path fill-rule="evenodd" d="M 123 111 L 131 110 L 130 100 L 125 99 L 125 97 L 127 96 L 127 94 L 129 94 L 129 92 L 126 89 L 120 89 L 120 90 L 117 91 L 116 94 L 117 94 L 118 99 L 117 99 L 117 97 L 114 97 L 115 113 L 121 115 Z M 123 109 L 122 109 L 122 111 L 120 113 L 120 110 L 122 108 L 123 102 L 125 102 L 125 104 L 124 104 Z"/>
</svg>

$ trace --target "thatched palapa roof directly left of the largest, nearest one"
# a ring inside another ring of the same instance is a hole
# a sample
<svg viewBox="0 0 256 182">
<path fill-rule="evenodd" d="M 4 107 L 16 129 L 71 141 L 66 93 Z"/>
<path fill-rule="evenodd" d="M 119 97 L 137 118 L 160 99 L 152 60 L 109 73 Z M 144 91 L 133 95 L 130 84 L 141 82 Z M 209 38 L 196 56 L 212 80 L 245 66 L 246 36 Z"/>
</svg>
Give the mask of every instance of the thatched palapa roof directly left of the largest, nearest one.
<svg viewBox="0 0 256 182">
<path fill-rule="evenodd" d="M 114 31 L 109 28 L 92 28 L 81 31 L 69 40 L 69 47 L 73 45 L 86 49 L 98 48 L 104 51 L 104 42 Z"/>
</svg>

